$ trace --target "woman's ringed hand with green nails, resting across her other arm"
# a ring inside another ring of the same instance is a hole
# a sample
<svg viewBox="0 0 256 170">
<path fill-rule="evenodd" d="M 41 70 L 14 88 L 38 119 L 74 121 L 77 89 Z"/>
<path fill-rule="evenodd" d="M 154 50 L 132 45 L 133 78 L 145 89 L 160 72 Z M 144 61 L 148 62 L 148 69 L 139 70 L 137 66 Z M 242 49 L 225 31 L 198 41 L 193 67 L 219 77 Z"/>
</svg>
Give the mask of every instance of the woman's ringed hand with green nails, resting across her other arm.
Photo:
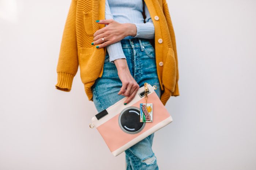
<svg viewBox="0 0 256 170">
<path fill-rule="evenodd" d="M 108 24 L 94 33 L 93 45 L 99 44 L 99 48 L 108 46 L 110 44 L 116 43 L 126 36 L 135 36 L 137 33 L 137 28 L 135 24 L 131 23 L 118 23 L 113 19 L 99 20 L 98 24 Z M 104 37 L 104 41 L 101 39 Z M 101 44 L 102 43 L 102 44 Z"/>
</svg>

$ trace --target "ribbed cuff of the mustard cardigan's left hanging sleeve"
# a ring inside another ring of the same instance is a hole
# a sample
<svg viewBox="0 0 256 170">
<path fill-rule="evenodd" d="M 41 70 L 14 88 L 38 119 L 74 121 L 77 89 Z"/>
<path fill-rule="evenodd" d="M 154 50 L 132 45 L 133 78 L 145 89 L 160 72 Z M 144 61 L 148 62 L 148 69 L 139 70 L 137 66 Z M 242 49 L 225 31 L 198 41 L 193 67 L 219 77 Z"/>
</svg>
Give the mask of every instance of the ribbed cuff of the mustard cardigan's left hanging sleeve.
<svg viewBox="0 0 256 170">
<path fill-rule="evenodd" d="M 57 74 L 58 78 L 57 84 L 55 85 L 56 89 L 69 92 L 75 75 L 66 72 L 57 72 Z"/>
</svg>

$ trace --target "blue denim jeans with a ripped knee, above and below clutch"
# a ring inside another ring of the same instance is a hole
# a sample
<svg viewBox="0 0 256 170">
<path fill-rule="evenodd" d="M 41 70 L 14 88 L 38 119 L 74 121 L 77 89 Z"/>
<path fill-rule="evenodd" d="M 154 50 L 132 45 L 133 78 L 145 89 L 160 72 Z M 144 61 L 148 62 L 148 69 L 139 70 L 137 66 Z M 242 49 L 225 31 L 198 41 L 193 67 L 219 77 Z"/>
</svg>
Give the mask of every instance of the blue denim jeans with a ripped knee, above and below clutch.
<svg viewBox="0 0 256 170">
<path fill-rule="evenodd" d="M 156 85 L 155 90 L 158 97 L 161 88 L 157 75 L 155 62 L 155 49 L 148 39 L 133 38 L 121 40 L 122 48 L 127 59 L 131 75 L 140 87 L 144 83 Z M 93 86 L 93 102 L 98 112 L 121 100 L 125 96 L 118 95 L 122 82 L 118 77 L 117 68 L 114 63 L 109 62 L 109 54 L 106 52 L 103 74 Z M 127 170 L 158 170 L 157 158 L 152 151 L 154 133 L 142 141 L 125 150 Z"/>
</svg>

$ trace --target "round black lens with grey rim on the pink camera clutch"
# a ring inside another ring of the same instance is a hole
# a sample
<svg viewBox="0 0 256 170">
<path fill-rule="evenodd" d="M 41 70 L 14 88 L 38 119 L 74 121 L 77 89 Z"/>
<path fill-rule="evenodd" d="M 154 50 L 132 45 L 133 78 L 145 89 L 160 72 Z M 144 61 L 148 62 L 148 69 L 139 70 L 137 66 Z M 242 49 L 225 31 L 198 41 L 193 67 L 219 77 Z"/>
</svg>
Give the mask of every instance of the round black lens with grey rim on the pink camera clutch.
<svg viewBox="0 0 256 170">
<path fill-rule="evenodd" d="M 146 122 L 140 122 L 140 109 L 131 106 L 121 111 L 118 124 L 125 133 L 136 134 L 143 130 Z"/>
</svg>

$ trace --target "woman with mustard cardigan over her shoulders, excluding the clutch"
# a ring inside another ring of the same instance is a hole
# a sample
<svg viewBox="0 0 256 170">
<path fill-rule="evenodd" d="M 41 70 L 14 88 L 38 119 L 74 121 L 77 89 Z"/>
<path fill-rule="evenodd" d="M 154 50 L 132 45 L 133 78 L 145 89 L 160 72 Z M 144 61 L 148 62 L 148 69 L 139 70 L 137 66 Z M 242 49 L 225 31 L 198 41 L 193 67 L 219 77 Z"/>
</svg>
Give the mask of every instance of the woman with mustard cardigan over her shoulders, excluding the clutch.
<svg viewBox="0 0 256 170">
<path fill-rule="evenodd" d="M 145 82 L 158 87 L 155 92 L 164 105 L 178 96 L 176 41 L 166 0 L 101 2 L 72 0 L 56 88 L 70 91 L 80 66 L 85 92 L 98 112 L 124 97 L 124 105 L 131 102 Z M 154 133 L 125 150 L 127 169 L 158 169 L 153 138 Z"/>
</svg>

